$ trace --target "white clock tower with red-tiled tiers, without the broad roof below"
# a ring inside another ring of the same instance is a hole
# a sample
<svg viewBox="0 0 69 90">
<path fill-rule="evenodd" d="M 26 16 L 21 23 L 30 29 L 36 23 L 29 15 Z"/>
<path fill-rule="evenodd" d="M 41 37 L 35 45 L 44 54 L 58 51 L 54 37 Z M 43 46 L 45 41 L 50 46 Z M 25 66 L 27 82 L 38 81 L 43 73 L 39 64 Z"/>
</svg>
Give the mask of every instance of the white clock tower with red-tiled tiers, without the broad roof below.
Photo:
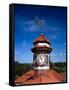
<svg viewBox="0 0 69 90">
<path fill-rule="evenodd" d="M 50 47 L 49 40 L 41 34 L 33 42 L 34 47 L 31 49 L 33 52 L 33 65 L 35 70 L 47 70 L 50 68 Z"/>
</svg>

